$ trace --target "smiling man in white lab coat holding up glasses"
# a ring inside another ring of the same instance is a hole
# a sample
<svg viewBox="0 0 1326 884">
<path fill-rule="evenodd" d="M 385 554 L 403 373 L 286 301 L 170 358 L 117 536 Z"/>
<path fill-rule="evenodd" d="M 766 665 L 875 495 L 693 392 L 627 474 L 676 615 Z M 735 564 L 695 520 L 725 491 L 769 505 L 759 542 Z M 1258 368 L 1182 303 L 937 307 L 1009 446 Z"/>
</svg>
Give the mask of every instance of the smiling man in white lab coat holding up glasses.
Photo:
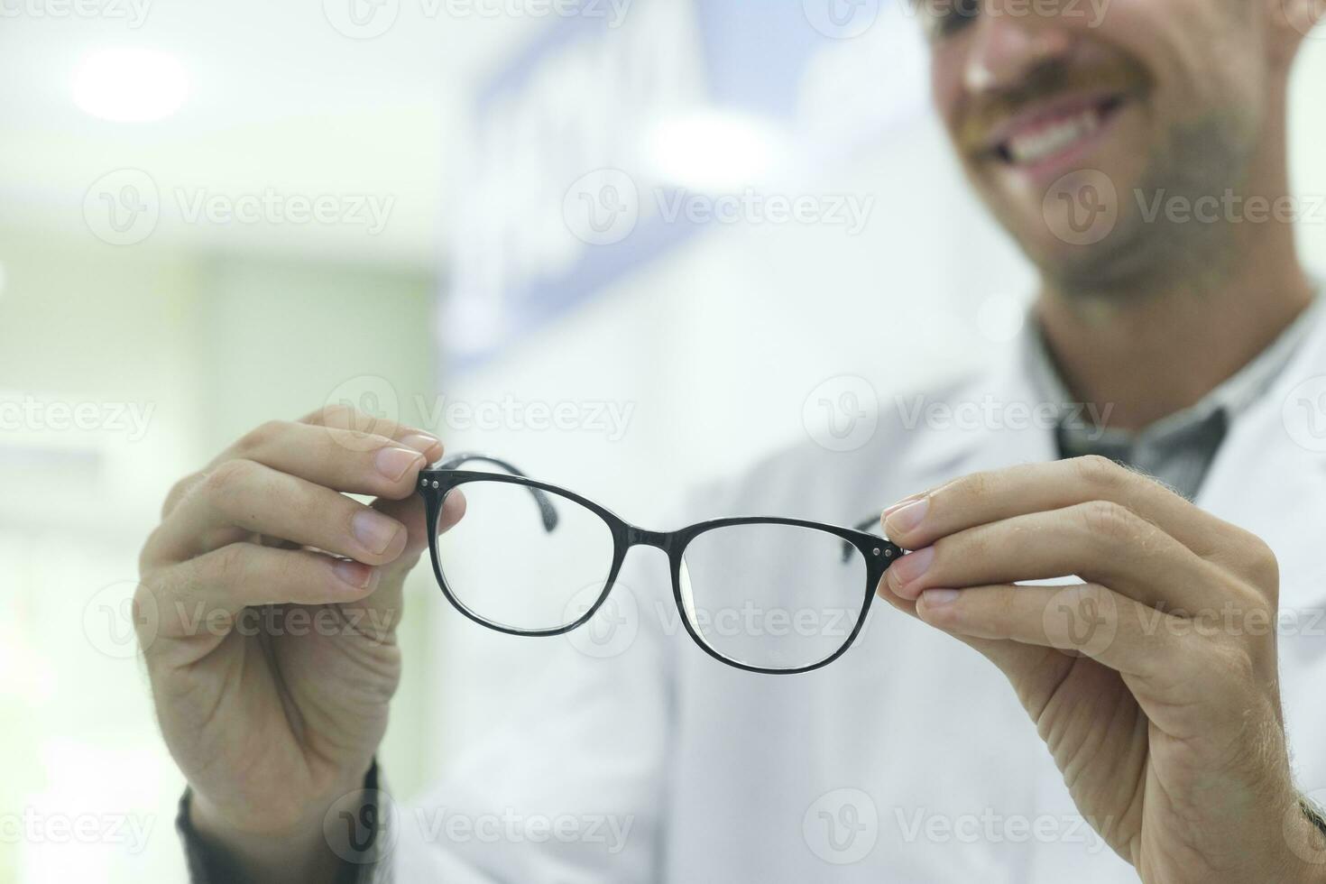
<svg viewBox="0 0 1326 884">
<path fill-rule="evenodd" d="M 919 5 L 936 107 L 1041 280 L 1016 357 L 932 400 L 1062 419 L 899 419 L 695 505 L 841 524 L 900 498 L 882 517 L 911 550 L 878 586 L 892 610 L 850 652 L 796 676 L 724 667 L 670 619 L 650 561 L 611 596 L 629 630 L 558 644 L 513 688 L 511 725 L 398 808 L 373 759 L 400 582 L 434 530 L 415 488 L 442 445 L 342 411 L 264 424 L 179 482 L 142 555 L 194 879 L 1326 881 L 1309 801 L 1326 786 L 1326 444 L 1296 423 L 1321 417 L 1326 325 L 1293 212 L 1252 217 L 1286 205 L 1286 83 L 1322 9 L 1081 11 Z M 438 530 L 481 520 L 455 500 Z M 814 574 L 754 549 L 732 610 L 813 594 Z M 357 626 L 168 615 L 198 599 Z M 756 648 L 839 619 L 723 622 Z"/>
</svg>

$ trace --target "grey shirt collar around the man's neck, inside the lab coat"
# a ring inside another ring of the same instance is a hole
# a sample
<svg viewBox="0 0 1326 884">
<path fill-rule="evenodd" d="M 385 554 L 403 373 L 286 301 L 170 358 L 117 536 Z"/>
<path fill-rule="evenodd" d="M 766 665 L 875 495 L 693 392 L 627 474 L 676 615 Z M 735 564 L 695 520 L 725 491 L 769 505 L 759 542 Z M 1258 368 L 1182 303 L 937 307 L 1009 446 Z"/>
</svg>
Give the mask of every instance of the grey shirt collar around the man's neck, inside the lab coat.
<svg viewBox="0 0 1326 884">
<path fill-rule="evenodd" d="M 1037 394 L 1045 402 L 1059 407 L 1061 420 L 1070 433 L 1089 433 L 1093 443 L 1105 444 L 1166 439 L 1191 431 L 1209 420 L 1216 412 L 1223 412 L 1224 419 L 1232 421 L 1256 402 L 1285 370 L 1298 345 L 1317 323 L 1318 314 L 1322 311 L 1322 297 L 1315 297 L 1307 309 L 1265 350 L 1203 396 L 1200 402 L 1162 417 L 1136 432 L 1091 427 L 1086 423 L 1085 410 L 1079 403 L 1073 402 L 1073 396 L 1054 366 L 1040 325 L 1034 321 L 1029 321 L 1030 330 L 1022 335 L 1022 363 Z"/>
</svg>

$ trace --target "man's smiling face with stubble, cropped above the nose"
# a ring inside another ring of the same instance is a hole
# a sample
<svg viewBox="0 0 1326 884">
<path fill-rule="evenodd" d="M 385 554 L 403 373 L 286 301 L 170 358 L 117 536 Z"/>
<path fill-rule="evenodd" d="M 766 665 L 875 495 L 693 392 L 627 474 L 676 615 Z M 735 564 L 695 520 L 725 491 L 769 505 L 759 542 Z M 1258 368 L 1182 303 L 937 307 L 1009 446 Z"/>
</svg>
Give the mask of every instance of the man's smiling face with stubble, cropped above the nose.
<svg viewBox="0 0 1326 884">
<path fill-rule="evenodd" d="M 1146 221 L 1162 190 L 1249 184 L 1272 74 L 1266 0 L 918 3 L 959 158 L 1048 277 L 1131 277 L 1184 241 Z"/>
</svg>

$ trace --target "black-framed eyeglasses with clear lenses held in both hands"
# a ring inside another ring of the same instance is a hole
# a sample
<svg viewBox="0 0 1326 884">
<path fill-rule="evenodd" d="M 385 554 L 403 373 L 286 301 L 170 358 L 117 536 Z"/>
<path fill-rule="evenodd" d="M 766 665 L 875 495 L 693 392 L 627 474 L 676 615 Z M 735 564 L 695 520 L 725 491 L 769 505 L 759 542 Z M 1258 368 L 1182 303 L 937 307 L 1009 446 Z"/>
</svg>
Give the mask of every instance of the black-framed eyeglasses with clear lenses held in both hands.
<svg viewBox="0 0 1326 884">
<path fill-rule="evenodd" d="M 504 472 L 459 469 L 468 463 Z M 679 615 L 659 611 L 664 628 L 680 620 L 707 653 L 751 672 L 809 672 L 837 660 L 903 555 L 874 534 L 797 518 L 648 531 L 487 455 L 455 455 L 420 472 L 419 493 L 438 584 L 471 620 L 508 635 L 570 632 L 607 602 L 626 553 L 652 546 L 668 558 Z M 439 535 L 448 504 L 463 505 L 464 517 Z"/>
</svg>

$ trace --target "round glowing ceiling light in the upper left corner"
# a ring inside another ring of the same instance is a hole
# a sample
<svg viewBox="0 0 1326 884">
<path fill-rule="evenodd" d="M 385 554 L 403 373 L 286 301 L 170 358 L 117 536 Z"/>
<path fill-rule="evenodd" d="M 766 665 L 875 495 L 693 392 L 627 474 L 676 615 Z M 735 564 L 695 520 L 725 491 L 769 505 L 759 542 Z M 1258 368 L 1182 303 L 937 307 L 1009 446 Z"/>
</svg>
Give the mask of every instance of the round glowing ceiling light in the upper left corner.
<svg viewBox="0 0 1326 884">
<path fill-rule="evenodd" d="M 175 56 L 154 49 L 102 49 L 80 62 L 74 103 L 93 117 L 143 123 L 170 117 L 188 97 L 188 74 Z"/>
</svg>

